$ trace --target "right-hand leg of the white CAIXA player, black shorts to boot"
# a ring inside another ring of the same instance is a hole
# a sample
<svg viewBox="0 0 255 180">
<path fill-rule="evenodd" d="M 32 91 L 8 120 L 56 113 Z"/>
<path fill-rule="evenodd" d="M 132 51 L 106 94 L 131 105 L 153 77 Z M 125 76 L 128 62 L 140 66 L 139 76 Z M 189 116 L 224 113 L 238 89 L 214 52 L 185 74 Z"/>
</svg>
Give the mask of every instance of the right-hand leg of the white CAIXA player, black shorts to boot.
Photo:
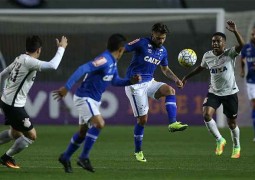
<svg viewBox="0 0 255 180">
<path fill-rule="evenodd" d="M 233 151 L 231 158 L 239 158 L 241 146 L 240 146 L 240 129 L 236 123 L 236 118 L 238 114 L 237 94 L 224 97 L 223 113 L 227 116 L 228 126 L 230 129 L 230 134 L 233 142 Z"/>
</svg>

